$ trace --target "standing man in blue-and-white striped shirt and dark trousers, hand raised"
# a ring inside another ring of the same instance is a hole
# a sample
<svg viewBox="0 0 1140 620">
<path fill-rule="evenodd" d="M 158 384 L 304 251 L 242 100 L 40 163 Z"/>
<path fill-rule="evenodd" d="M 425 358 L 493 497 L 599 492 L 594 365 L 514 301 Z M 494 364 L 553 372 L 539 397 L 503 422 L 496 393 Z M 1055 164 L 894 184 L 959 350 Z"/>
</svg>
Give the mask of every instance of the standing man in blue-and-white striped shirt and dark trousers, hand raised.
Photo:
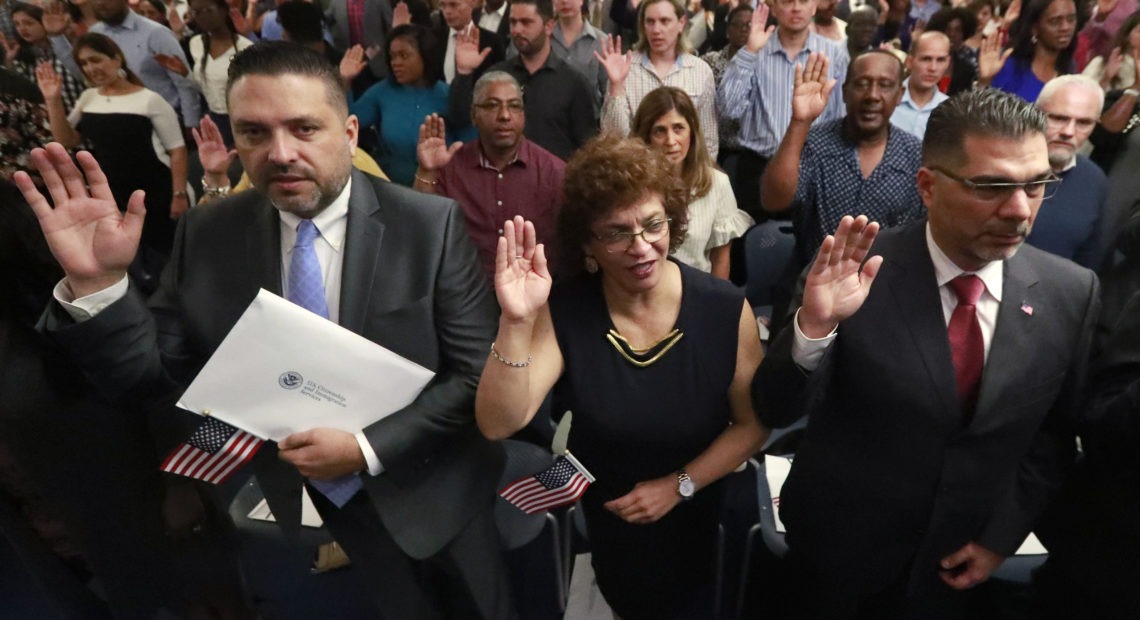
<svg viewBox="0 0 1140 620">
<path fill-rule="evenodd" d="M 795 85 L 796 64 L 822 52 L 831 60 L 831 79 L 842 83 L 849 63 L 841 42 L 811 32 L 815 0 L 776 0 L 771 10 L 779 27 L 765 27 L 769 9 L 760 3 L 752 13 L 748 42 L 728 63 L 717 91 L 720 115 L 740 121 L 742 150 L 733 191 L 740 207 L 758 221 L 767 219 L 759 209 L 759 179 L 791 121 L 788 95 Z M 834 89 L 817 122 L 842 115 L 842 95 Z"/>
</svg>

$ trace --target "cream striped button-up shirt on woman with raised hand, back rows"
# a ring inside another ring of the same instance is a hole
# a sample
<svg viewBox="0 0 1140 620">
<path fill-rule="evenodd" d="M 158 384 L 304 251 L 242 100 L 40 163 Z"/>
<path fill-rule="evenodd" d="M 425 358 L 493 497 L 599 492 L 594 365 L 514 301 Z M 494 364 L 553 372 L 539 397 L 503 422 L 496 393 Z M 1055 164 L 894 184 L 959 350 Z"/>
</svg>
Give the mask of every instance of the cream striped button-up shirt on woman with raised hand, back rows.
<svg viewBox="0 0 1140 620">
<path fill-rule="evenodd" d="M 697 117 L 705 134 L 705 145 L 709 149 L 709 156 L 715 161 L 719 145 L 716 124 L 716 81 L 708 64 L 692 54 L 677 56 L 677 62 L 662 79 L 658 76 L 649 56 L 638 51 L 633 52 L 629 75 L 626 76 L 626 93 L 621 97 L 605 96 L 605 104 L 602 106 L 602 131 L 628 136 L 634 114 L 642 99 L 661 87 L 675 87 L 689 93 L 689 98 L 697 106 Z"/>
</svg>

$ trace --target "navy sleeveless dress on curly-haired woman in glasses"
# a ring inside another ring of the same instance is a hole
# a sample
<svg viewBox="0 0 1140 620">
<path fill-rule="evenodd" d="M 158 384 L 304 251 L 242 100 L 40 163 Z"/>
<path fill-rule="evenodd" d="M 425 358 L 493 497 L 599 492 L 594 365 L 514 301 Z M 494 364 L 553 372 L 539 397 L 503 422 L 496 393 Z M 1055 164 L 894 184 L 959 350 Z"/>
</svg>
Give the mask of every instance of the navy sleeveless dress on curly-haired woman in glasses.
<svg viewBox="0 0 1140 620">
<path fill-rule="evenodd" d="M 565 370 L 559 411 L 573 413 L 568 447 L 597 481 L 583 498 L 598 588 L 624 620 L 712 617 L 718 484 L 656 523 L 632 524 L 603 504 L 671 475 L 728 426 L 743 293 L 677 263 L 683 336 L 637 367 L 606 338 L 613 324 L 601 275 L 560 283 L 551 316 Z"/>
</svg>

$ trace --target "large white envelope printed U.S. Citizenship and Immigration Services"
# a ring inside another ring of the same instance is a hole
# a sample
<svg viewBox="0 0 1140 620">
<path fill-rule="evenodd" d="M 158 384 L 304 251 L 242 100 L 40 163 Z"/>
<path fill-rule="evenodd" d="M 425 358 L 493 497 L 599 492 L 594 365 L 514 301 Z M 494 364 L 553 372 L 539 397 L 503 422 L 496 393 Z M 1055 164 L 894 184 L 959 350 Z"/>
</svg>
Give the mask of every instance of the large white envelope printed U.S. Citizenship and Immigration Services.
<svg viewBox="0 0 1140 620">
<path fill-rule="evenodd" d="M 407 407 L 434 373 L 262 289 L 178 401 L 261 439 L 350 433 Z"/>
</svg>

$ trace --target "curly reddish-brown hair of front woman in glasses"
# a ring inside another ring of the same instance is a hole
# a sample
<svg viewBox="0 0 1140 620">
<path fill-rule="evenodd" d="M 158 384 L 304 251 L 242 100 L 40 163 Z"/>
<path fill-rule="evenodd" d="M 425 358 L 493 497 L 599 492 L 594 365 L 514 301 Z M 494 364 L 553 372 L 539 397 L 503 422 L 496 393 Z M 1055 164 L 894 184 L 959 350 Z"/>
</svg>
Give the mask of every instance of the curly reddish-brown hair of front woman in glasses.
<svg viewBox="0 0 1140 620">
<path fill-rule="evenodd" d="M 603 134 L 579 148 L 567 162 L 564 203 L 556 236 L 563 275 L 583 270 L 585 247 L 594 240 L 593 225 L 643 198 L 661 198 L 669 217 L 669 251 L 685 240 L 687 190 L 665 154 L 637 138 Z"/>
</svg>

